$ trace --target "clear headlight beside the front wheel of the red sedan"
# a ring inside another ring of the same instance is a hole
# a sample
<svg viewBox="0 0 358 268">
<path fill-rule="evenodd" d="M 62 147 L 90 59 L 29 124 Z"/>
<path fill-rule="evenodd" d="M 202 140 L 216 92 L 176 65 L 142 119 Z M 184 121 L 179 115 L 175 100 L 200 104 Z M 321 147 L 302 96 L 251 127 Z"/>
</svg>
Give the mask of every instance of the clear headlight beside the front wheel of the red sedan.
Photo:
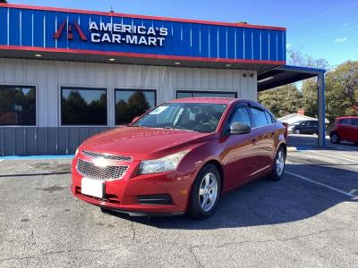
<svg viewBox="0 0 358 268">
<path fill-rule="evenodd" d="M 158 172 L 172 172 L 183 159 L 189 150 L 179 152 L 173 155 L 166 155 L 162 158 L 154 160 L 142 161 L 140 165 L 140 174 L 158 173 Z"/>
</svg>

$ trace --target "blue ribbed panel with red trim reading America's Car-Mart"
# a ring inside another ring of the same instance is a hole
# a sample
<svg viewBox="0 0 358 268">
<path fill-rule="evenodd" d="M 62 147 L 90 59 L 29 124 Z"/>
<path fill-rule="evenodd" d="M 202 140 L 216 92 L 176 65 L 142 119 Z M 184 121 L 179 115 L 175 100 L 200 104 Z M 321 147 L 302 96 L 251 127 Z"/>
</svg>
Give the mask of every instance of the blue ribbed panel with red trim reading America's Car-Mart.
<svg viewBox="0 0 358 268">
<path fill-rule="evenodd" d="M 286 62 L 286 29 L 0 5 L 0 46 L 79 53 L 113 53 Z"/>
</svg>

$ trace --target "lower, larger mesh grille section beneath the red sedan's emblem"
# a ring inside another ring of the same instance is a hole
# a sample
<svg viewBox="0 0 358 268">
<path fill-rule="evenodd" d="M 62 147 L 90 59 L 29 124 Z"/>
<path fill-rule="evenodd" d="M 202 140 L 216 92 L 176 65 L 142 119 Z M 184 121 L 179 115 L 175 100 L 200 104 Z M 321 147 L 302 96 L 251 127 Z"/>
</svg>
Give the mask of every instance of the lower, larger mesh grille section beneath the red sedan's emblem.
<svg viewBox="0 0 358 268">
<path fill-rule="evenodd" d="M 126 165 L 98 167 L 93 163 L 83 161 L 81 159 L 79 159 L 77 163 L 78 172 L 86 178 L 96 180 L 121 179 L 127 169 L 128 166 Z"/>
</svg>

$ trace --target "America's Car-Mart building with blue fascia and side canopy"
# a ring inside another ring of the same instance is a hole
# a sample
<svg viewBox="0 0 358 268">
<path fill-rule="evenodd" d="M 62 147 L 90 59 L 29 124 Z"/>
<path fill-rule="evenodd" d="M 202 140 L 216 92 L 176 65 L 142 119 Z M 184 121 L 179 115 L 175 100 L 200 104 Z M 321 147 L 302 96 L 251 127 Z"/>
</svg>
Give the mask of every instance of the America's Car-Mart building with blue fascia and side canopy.
<svg viewBox="0 0 358 268">
<path fill-rule="evenodd" d="M 286 29 L 0 4 L 0 155 L 71 155 L 167 100 L 258 92 L 318 77 L 286 65 Z"/>
</svg>

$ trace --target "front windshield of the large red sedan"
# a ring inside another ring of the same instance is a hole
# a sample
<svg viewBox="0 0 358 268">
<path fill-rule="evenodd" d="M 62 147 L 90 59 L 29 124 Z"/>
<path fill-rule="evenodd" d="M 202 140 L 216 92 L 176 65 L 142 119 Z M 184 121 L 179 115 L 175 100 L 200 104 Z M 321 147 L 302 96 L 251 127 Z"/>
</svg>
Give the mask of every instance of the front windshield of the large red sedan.
<svg viewBox="0 0 358 268">
<path fill-rule="evenodd" d="M 226 105 L 216 104 L 164 104 L 153 109 L 130 126 L 213 132 L 217 129 L 217 124 L 225 109 Z"/>
</svg>

